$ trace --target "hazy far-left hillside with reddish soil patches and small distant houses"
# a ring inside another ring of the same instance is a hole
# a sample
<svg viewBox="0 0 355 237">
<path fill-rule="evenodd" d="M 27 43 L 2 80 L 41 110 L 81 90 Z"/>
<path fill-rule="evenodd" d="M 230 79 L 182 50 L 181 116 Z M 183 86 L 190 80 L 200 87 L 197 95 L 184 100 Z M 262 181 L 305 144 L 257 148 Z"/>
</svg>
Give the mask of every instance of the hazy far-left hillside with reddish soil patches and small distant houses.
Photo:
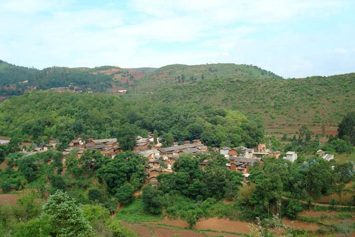
<svg viewBox="0 0 355 237">
<path fill-rule="evenodd" d="M 132 87 L 154 68 L 123 69 L 50 67 L 43 70 L 9 64 L 0 60 L 0 96 L 21 95 L 34 90 L 70 87 L 67 90 L 118 92 Z"/>
</svg>

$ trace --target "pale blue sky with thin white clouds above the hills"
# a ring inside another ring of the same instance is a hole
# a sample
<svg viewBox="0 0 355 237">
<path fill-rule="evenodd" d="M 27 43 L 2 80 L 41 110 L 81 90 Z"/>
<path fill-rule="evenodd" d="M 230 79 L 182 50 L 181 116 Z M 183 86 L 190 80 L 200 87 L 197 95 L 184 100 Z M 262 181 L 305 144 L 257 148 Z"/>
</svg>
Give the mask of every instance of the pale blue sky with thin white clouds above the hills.
<svg viewBox="0 0 355 237">
<path fill-rule="evenodd" d="M 123 68 L 253 64 L 355 72 L 355 0 L 0 0 L 0 59 Z"/>
</svg>

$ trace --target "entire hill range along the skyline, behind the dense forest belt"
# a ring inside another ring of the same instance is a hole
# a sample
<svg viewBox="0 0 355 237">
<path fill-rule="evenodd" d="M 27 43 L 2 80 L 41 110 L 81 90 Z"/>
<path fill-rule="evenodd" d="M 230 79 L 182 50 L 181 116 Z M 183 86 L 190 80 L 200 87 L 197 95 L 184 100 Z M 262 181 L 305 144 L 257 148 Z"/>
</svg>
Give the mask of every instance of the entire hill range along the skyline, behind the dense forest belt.
<svg viewBox="0 0 355 237">
<path fill-rule="evenodd" d="M 262 117 L 265 124 L 337 124 L 355 108 L 355 73 L 283 79 L 253 65 L 168 65 L 161 68 L 51 67 L 0 61 L 0 96 L 54 87 L 118 94 L 169 105 L 202 104 Z M 277 132 L 277 128 L 276 132 Z"/>
</svg>

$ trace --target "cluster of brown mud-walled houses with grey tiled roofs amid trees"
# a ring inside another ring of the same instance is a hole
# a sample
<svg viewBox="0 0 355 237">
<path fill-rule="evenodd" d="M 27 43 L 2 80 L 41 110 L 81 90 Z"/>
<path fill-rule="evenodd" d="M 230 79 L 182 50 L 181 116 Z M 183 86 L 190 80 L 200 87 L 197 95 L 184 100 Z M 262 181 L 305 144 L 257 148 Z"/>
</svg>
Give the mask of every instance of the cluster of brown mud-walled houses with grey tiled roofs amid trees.
<svg viewBox="0 0 355 237">
<path fill-rule="evenodd" d="M 266 144 L 262 143 L 258 144 L 255 148 L 247 148 L 245 146 L 209 148 L 204 145 L 200 139 L 194 139 L 192 142 L 189 140 L 183 141 L 182 144 L 174 142 L 173 146 L 163 147 L 163 144 L 160 142 L 161 138 L 158 137 L 156 142 L 154 142 L 154 140 L 154 134 L 151 132 L 147 138 L 137 136 L 135 146 L 133 147 L 133 153 L 147 158 L 146 182 L 151 186 L 158 185 L 157 177 L 160 173 L 173 172 L 172 166 L 182 154 L 191 154 L 193 157 L 196 157 L 196 154 L 217 152 L 226 158 L 226 169 L 241 172 L 245 181 L 248 181 L 251 167 L 257 163 L 262 163 L 267 158 L 283 158 L 290 162 L 297 160 L 297 152 L 295 151 L 288 151 L 285 153 L 285 156 L 280 157 L 281 151 L 271 151 L 266 148 Z M 45 145 L 33 148 L 32 152 L 43 152 L 48 149 L 55 149 L 58 143 L 58 140 L 50 140 Z M 24 152 L 25 150 L 22 151 Z M 70 152 L 76 152 L 77 157 L 80 158 L 85 151 L 99 151 L 101 154 L 111 159 L 113 159 L 116 154 L 123 152 L 117 142 L 117 138 L 94 139 L 89 137 L 82 139 L 78 137 L 73 139 L 69 143 L 69 147 L 63 150 L 63 156 L 65 157 Z M 334 159 L 333 154 L 326 154 L 322 150 L 318 150 L 316 154 L 326 161 Z M 65 165 L 65 159 L 63 159 L 63 163 Z M 208 160 L 201 160 L 200 166 L 202 168 L 208 165 Z"/>
</svg>

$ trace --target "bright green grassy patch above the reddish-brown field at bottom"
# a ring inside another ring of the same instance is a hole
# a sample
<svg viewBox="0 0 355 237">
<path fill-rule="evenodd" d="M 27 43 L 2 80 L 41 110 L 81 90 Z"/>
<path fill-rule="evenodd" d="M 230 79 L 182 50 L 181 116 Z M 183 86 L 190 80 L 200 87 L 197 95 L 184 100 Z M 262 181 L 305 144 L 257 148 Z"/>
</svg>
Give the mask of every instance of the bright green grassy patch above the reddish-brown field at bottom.
<svg viewBox="0 0 355 237">
<path fill-rule="evenodd" d="M 162 221 L 159 216 L 151 215 L 145 210 L 141 199 L 137 199 L 130 205 L 121 208 L 116 212 L 116 219 L 128 223 Z"/>
</svg>

